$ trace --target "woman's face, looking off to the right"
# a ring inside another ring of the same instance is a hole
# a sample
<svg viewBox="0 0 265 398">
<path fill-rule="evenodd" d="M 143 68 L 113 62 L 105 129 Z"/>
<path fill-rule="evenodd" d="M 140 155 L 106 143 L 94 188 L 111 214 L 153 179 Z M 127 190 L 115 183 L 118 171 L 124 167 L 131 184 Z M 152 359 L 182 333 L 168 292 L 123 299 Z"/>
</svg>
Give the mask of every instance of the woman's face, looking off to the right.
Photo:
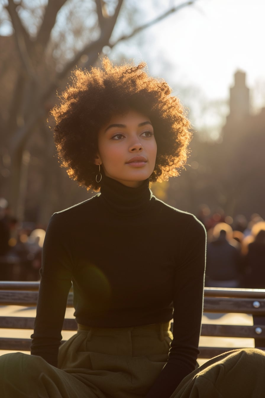
<svg viewBox="0 0 265 398">
<path fill-rule="evenodd" d="M 157 143 L 150 119 L 130 110 L 113 116 L 99 131 L 98 158 L 107 177 L 137 187 L 155 168 Z"/>
</svg>

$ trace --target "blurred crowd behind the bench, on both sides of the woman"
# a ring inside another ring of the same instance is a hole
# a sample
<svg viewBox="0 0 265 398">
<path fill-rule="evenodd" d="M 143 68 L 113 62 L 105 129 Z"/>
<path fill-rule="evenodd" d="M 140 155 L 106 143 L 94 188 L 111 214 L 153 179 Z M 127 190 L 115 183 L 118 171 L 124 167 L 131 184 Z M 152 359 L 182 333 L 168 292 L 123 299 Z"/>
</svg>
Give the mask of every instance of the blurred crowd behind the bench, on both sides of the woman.
<svg viewBox="0 0 265 398">
<path fill-rule="evenodd" d="M 232 219 L 202 205 L 197 218 L 207 230 L 205 285 L 265 289 L 265 221 L 258 214 Z M 0 198 L 0 280 L 37 281 L 45 227 L 19 222 Z"/>
</svg>

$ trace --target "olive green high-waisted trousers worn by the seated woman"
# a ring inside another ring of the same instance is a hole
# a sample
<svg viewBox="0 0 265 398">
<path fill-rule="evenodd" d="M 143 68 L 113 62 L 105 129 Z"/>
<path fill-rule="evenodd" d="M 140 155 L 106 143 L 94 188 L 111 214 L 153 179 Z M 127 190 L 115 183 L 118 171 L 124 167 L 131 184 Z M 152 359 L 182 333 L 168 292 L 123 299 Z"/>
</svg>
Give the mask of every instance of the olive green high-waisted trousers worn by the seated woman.
<svg viewBox="0 0 265 398">
<path fill-rule="evenodd" d="M 58 368 L 23 353 L 0 356 L 1 398 L 144 398 L 166 362 L 168 324 L 82 328 Z M 170 398 L 265 397 L 265 353 L 233 350 L 188 375 Z M 163 398 L 163 397 L 161 397 Z"/>
</svg>

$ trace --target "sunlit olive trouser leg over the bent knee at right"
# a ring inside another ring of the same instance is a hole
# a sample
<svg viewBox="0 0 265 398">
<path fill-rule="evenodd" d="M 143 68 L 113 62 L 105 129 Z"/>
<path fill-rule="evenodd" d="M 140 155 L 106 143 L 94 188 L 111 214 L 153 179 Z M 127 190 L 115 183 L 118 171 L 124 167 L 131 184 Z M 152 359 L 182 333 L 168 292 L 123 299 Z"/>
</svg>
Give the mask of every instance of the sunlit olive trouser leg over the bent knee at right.
<svg viewBox="0 0 265 398">
<path fill-rule="evenodd" d="M 170 398 L 263 398 L 265 351 L 235 349 L 186 376 Z"/>
</svg>

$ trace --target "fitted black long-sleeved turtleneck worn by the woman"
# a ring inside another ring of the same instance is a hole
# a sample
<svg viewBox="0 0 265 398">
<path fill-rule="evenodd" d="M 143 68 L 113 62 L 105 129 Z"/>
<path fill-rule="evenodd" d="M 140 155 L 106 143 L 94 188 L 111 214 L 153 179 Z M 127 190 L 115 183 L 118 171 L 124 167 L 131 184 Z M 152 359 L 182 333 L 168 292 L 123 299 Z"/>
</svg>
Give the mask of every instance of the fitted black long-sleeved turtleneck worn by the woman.
<svg viewBox="0 0 265 398">
<path fill-rule="evenodd" d="M 73 283 L 78 323 L 128 327 L 174 319 L 168 362 L 148 398 L 169 397 L 197 354 L 205 230 L 191 214 L 103 177 L 101 194 L 55 213 L 43 246 L 31 353 L 56 366 Z M 174 308 L 174 316 L 173 316 Z"/>
</svg>

